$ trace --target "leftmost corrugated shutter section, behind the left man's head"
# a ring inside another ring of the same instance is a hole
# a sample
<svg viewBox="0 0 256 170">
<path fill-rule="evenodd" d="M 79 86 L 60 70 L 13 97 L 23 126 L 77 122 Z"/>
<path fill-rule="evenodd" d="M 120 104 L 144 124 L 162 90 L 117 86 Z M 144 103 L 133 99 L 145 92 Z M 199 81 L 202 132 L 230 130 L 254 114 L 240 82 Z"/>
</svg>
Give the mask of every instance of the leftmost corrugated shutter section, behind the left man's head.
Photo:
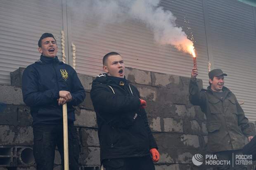
<svg viewBox="0 0 256 170">
<path fill-rule="evenodd" d="M 39 59 L 42 33 L 60 37 L 62 4 L 61 0 L 0 0 L 0 4 L 0 84 L 10 84 L 10 72 Z M 60 38 L 57 44 L 61 51 Z"/>
</svg>

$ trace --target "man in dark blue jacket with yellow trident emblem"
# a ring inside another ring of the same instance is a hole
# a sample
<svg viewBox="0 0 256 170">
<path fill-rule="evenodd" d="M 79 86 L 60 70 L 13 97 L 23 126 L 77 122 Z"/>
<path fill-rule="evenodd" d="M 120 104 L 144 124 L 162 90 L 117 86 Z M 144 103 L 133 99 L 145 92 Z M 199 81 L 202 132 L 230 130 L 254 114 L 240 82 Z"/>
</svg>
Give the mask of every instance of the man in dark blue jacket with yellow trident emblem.
<svg viewBox="0 0 256 170">
<path fill-rule="evenodd" d="M 22 93 L 33 116 L 33 154 L 38 170 L 52 170 L 57 145 L 64 162 L 62 105 L 67 103 L 69 168 L 79 170 L 78 136 L 73 126 L 73 106 L 85 99 L 76 71 L 58 60 L 55 37 L 44 33 L 38 41 L 40 60 L 29 65 L 22 76 Z"/>
</svg>

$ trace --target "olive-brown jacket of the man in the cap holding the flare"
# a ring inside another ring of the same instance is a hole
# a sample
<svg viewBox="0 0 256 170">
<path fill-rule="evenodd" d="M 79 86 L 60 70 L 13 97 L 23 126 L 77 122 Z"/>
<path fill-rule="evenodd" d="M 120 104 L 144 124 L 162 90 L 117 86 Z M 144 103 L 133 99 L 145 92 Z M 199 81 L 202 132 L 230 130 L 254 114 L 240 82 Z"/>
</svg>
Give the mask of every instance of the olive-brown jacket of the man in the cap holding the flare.
<svg viewBox="0 0 256 170">
<path fill-rule="evenodd" d="M 225 86 L 223 98 L 214 95 L 211 86 L 199 90 L 197 79 L 190 79 L 189 99 L 206 115 L 207 150 L 210 152 L 242 149 L 245 137 L 253 136 L 248 119 L 235 95 Z"/>
</svg>

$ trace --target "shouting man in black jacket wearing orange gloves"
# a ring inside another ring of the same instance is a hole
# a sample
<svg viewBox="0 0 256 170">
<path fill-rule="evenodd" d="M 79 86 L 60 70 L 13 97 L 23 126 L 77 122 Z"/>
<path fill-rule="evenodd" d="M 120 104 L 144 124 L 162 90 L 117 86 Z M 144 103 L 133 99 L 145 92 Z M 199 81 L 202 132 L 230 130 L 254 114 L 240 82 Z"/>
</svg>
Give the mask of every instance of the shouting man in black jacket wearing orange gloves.
<svg viewBox="0 0 256 170">
<path fill-rule="evenodd" d="M 103 70 L 90 92 L 97 115 L 101 162 L 106 170 L 154 170 L 159 160 L 145 112 L 146 101 L 125 78 L 120 54 L 103 57 Z M 150 155 L 151 154 L 151 155 Z M 151 158 L 152 156 L 152 158 Z"/>
</svg>

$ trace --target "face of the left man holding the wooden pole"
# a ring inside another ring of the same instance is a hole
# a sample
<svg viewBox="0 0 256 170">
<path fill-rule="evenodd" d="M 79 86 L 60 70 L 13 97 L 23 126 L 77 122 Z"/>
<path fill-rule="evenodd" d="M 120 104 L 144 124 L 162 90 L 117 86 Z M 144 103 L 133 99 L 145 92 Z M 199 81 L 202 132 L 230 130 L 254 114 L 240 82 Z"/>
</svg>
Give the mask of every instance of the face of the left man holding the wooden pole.
<svg viewBox="0 0 256 170">
<path fill-rule="evenodd" d="M 38 47 L 38 51 L 46 57 L 55 57 L 58 51 L 58 47 L 54 38 L 44 38 L 42 40 L 42 47 Z"/>
</svg>

